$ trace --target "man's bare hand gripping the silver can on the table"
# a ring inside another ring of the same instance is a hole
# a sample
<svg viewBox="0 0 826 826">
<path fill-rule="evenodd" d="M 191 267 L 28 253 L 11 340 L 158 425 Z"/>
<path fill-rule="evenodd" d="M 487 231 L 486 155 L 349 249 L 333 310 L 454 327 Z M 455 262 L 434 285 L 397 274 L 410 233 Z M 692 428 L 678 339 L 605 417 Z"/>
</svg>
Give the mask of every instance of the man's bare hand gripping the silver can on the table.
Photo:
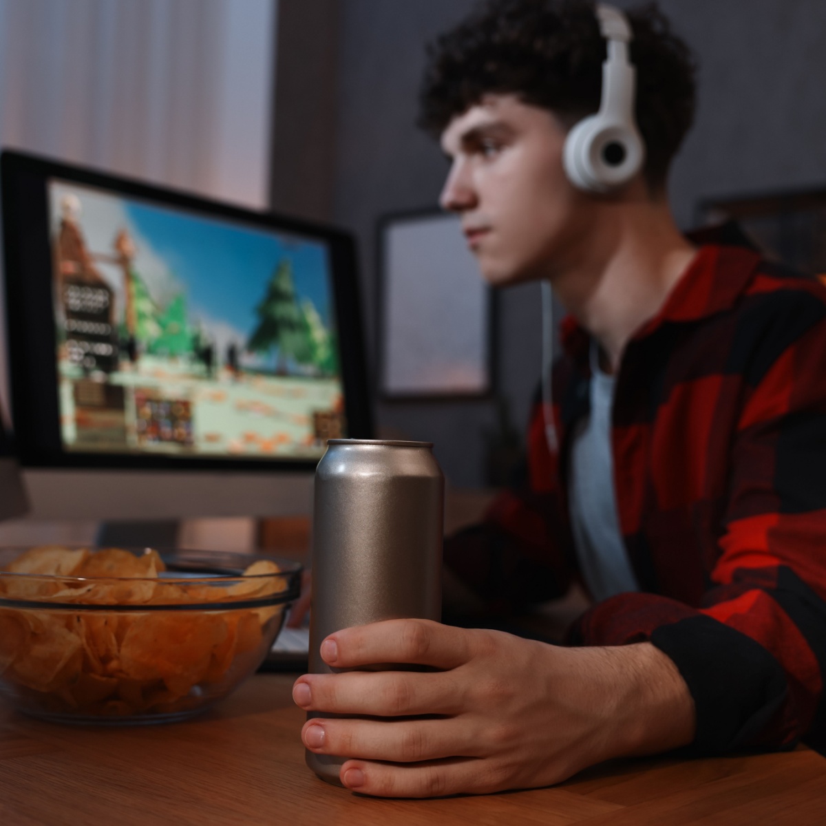
<svg viewBox="0 0 826 826">
<path fill-rule="evenodd" d="M 431 797 L 547 786 L 594 763 L 686 745 L 694 704 L 650 643 L 558 648 L 497 631 L 392 619 L 330 634 L 335 669 L 415 663 L 437 672 L 306 674 L 307 711 L 387 719 L 311 719 L 312 752 L 350 757 L 344 786 Z"/>
</svg>

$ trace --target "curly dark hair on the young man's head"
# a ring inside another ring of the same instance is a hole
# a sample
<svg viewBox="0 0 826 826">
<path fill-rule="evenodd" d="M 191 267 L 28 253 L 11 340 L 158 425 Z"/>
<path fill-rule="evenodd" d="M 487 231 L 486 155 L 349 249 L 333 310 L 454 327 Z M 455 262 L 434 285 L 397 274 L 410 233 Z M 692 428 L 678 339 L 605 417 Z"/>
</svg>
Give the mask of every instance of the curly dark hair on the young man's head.
<svg viewBox="0 0 826 826">
<path fill-rule="evenodd" d="M 695 112 L 695 61 L 656 2 L 627 12 L 649 188 L 664 187 Z M 605 40 L 592 0 L 487 0 L 428 49 L 419 124 L 439 135 L 491 93 L 516 94 L 569 128 L 600 107 Z"/>
</svg>

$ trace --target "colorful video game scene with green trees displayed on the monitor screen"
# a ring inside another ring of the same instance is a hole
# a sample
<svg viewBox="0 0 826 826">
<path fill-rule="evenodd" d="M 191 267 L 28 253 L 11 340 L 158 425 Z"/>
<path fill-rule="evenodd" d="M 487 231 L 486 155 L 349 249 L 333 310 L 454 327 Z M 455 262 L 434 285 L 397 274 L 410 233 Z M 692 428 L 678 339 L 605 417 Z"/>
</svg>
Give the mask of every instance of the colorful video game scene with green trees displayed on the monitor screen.
<svg viewBox="0 0 826 826">
<path fill-rule="evenodd" d="M 312 458 L 345 435 L 323 244 L 50 181 L 64 449 Z"/>
</svg>

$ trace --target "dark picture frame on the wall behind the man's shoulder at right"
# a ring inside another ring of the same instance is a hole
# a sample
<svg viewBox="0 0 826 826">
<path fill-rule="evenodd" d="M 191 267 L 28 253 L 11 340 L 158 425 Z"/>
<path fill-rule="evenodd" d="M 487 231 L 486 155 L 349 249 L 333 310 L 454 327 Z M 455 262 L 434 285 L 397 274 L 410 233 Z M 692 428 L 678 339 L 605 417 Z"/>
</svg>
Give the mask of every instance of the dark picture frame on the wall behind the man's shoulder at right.
<svg viewBox="0 0 826 826">
<path fill-rule="evenodd" d="M 733 221 L 768 258 L 826 280 L 826 186 L 705 198 L 697 219 Z"/>
</svg>

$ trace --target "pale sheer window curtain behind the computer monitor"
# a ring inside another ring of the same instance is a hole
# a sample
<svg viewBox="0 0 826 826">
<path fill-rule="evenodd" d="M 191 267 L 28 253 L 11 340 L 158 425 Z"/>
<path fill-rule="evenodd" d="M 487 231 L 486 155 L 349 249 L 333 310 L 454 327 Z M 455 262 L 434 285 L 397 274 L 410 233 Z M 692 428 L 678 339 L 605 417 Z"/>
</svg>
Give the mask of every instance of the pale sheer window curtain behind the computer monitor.
<svg viewBox="0 0 826 826">
<path fill-rule="evenodd" d="M 267 207 L 277 3 L 0 0 L 0 145 Z M 8 421 L 5 343 L 0 306 Z M 0 539 L 92 529 L 5 524 Z"/>
</svg>

